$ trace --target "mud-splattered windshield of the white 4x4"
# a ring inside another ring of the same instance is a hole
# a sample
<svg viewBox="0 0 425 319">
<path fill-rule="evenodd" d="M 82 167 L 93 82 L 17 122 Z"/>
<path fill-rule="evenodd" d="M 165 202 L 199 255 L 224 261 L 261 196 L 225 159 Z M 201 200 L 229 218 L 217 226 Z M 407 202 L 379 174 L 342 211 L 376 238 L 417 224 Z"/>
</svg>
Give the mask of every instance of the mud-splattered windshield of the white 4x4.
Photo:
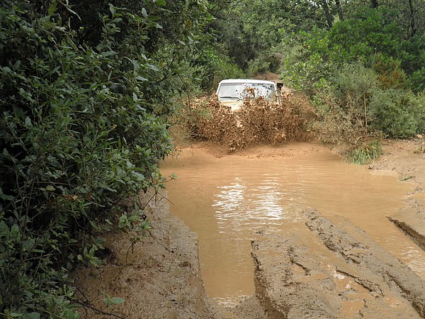
<svg viewBox="0 0 425 319">
<path fill-rule="evenodd" d="M 219 101 L 255 99 L 258 97 L 273 100 L 276 97 L 276 91 L 273 84 L 222 83 L 218 88 L 217 96 Z"/>
</svg>

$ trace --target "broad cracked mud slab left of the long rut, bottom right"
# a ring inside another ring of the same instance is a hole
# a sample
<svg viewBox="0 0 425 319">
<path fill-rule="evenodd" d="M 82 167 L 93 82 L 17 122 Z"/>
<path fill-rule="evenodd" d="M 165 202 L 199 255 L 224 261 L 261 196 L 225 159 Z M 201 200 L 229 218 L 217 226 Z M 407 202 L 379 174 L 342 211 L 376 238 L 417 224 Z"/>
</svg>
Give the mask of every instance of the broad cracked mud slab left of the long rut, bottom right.
<svg viewBox="0 0 425 319">
<path fill-rule="evenodd" d="M 420 318 L 379 274 L 326 252 L 313 236 L 253 242 L 256 292 L 270 318 Z"/>
</svg>

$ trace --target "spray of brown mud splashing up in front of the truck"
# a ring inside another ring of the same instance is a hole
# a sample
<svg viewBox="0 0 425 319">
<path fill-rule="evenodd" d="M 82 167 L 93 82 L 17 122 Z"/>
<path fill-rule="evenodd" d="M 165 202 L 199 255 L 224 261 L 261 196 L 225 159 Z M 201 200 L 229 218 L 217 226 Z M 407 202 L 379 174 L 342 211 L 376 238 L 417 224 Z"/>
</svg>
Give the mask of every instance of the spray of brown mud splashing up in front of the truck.
<svg viewBox="0 0 425 319">
<path fill-rule="evenodd" d="M 227 152 L 307 140 L 307 123 L 314 115 L 307 100 L 293 94 L 285 94 L 280 103 L 248 99 L 239 111 L 231 111 L 213 96 L 208 111 L 210 116 L 200 118 L 194 128 L 196 137 L 222 145 Z"/>
</svg>

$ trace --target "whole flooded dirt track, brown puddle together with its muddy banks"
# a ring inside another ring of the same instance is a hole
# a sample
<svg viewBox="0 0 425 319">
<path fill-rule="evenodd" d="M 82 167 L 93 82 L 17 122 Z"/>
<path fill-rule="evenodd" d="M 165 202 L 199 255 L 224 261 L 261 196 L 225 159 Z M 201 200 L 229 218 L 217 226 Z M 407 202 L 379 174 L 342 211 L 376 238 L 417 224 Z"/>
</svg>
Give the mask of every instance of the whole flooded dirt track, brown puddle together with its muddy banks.
<svg viewBox="0 0 425 319">
<path fill-rule="evenodd" d="M 103 234 L 74 274 L 81 318 L 425 318 L 425 139 L 383 146 L 368 167 L 314 143 L 183 150 L 173 204 L 140 194 L 142 240 Z"/>
</svg>

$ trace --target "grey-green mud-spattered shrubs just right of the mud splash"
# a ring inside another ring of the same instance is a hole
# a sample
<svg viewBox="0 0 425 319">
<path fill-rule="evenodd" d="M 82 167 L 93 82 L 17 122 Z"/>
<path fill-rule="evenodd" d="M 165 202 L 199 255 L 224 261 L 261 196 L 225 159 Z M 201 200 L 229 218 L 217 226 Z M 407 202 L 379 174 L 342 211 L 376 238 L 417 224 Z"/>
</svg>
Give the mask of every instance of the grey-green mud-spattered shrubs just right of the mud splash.
<svg viewBox="0 0 425 319">
<path fill-rule="evenodd" d="M 390 70 L 397 71 L 390 66 Z M 324 142 L 343 143 L 363 152 L 363 140 L 370 135 L 409 138 L 425 129 L 424 94 L 394 89 L 403 76 L 392 76 L 380 65 L 380 74 L 361 62 L 341 67 L 332 84 L 314 96 L 319 119 L 314 129 Z M 382 82 L 382 74 L 385 82 Z M 388 89 L 388 84 L 391 83 Z"/>
</svg>

